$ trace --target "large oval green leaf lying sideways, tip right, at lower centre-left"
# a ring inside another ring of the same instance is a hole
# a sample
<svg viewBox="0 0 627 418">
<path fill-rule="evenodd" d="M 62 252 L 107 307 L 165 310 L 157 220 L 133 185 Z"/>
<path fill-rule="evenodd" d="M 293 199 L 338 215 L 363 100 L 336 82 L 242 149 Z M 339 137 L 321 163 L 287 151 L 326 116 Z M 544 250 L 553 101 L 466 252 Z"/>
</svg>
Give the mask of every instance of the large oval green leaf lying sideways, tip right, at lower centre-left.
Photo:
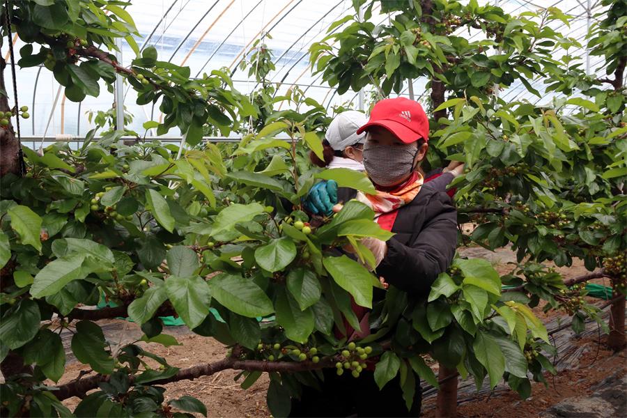
<svg viewBox="0 0 627 418">
<path fill-rule="evenodd" d="M 251 279 L 219 274 L 209 281 L 212 297 L 235 314 L 256 318 L 274 312 L 272 301 Z"/>
</svg>

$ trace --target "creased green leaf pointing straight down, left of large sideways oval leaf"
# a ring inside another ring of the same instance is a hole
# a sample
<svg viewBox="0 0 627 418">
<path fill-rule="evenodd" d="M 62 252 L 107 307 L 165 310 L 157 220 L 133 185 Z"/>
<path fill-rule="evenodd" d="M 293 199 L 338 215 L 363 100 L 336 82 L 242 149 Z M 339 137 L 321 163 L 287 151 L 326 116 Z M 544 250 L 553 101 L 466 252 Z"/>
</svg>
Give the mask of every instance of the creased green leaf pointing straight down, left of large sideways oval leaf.
<svg viewBox="0 0 627 418">
<path fill-rule="evenodd" d="M 201 277 L 170 276 L 165 288 L 176 313 L 189 328 L 199 326 L 209 314 L 211 294 L 207 282 Z"/>
</svg>

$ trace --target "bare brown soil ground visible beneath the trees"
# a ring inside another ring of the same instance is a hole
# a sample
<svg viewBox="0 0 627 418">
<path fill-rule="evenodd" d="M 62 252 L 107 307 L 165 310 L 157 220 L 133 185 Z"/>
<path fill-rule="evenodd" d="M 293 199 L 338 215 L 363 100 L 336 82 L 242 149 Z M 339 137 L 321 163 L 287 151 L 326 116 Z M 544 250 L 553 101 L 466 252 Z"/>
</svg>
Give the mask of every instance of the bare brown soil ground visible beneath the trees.
<svg viewBox="0 0 627 418">
<path fill-rule="evenodd" d="M 516 256 L 512 251 L 498 249 L 495 252 L 486 251 L 480 247 L 463 249 L 462 254 L 470 257 L 487 258 L 501 273 L 510 272 L 515 266 L 508 264 L 516 262 Z M 548 263 L 550 264 L 550 263 Z M 559 268 L 565 279 L 585 274 L 587 270 L 582 263 L 575 263 L 571 268 Z M 603 284 L 603 280 L 597 281 Z M 607 283 L 605 283 L 607 285 Z M 591 299 L 593 301 L 593 299 Z M 598 300 L 596 300 L 598 302 Z M 550 311 L 543 313 L 541 307 L 534 309 L 536 315 L 543 321 L 548 321 L 561 313 Z M 134 324 L 125 321 L 109 321 L 116 325 L 113 339 L 107 334 L 107 338 L 113 341 L 122 339 L 132 341 L 141 335 L 141 331 Z M 103 323 L 101 323 L 103 325 Z M 178 327 L 165 330 L 166 333 L 176 336 L 182 346 L 165 348 L 159 344 L 148 344 L 148 350 L 167 357 L 170 364 L 178 367 L 187 367 L 199 362 L 212 362 L 224 357 L 226 349 L 221 343 L 188 332 L 183 332 Z M 183 333 L 182 333 L 183 332 Z M 107 333 L 105 331 L 105 333 Z M 625 351 L 613 354 L 605 348 L 603 339 L 581 339 L 573 343 L 586 346 L 585 354 L 581 357 L 577 369 L 560 371 L 557 376 L 547 376 L 549 386 L 541 383 L 532 385 L 532 396 L 527 400 L 521 400 L 518 394 L 509 390 L 500 390 L 492 394 L 471 396 L 460 399 L 458 417 L 537 417 L 539 413 L 551 405 L 572 396 L 586 396 L 591 393 L 591 387 L 601 382 L 608 376 L 622 376 L 626 373 L 627 362 Z M 433 365 L 437 369 L 437 364 Z M 72 380 L 78 376 L 79 371 L 87 369 L 83 364 L 70 362 L 67 373 L 63 376 L 63 382 Z M 175 382 L 165 385 L 168 399 L 189 395 L 199 398 L 207 406 L 209 417 L 270 417 L 270 412 L 265 403 L 265 391 L 268 388 L 268 377 L 262 376 L 248 390 L 240 387 L 234 378 L 236 371 L 222 371 L 215 376 L 206 376 L 193 381 Z M 240 382 L 242 380 L 240 379 Z M 64 403 L 73 409 L 79 402 L 78 398 L 70 398 Z M 424 402 L 424 416 L 435 417 L 435 398 Z"/>
</svg>

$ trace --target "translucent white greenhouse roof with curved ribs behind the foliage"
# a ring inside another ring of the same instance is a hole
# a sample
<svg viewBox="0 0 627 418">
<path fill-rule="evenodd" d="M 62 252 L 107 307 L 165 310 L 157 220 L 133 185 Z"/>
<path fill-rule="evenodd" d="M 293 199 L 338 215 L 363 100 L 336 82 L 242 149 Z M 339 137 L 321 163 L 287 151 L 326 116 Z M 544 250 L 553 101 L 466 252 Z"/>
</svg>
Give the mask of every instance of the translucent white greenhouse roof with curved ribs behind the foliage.
<svg viewBox="0 0 627 418">
<path fill-rule="evenodd" d="M 487 1 L 480 0 L 479 3 Z M 555 6 L 574 16 L 570 27 L 562 25 L 559 31 L 583 44 L 587 25 L 598 13 L 596 0 L 493 0 L 490 3 L 497 4 L 512 15 Z M 269 79 L 279 84 L 279 94 L 297 85 L 327 109 L 347 102 L 359 107 L 358 93 L 349 90 L 344 95 L 337 95 L 335 88 L 322 82 L 320 75 L 312 75 L 307 56 L 311 43 L 322 40 L 332 22 L 354 13 L 351 0 L 133 0 L 127 11 L 141 34 L 141 38 L 137 38 L 139 46 L 154 45 L 161 60 L 189 66 L 192 77 L 226 67 L 233 73 L 235 88 L 243 93 L 253 91 L 256 82 L 253 77 L 247 77 L 248 69 L 237 69 L 238 63 L 246 59 L 245 52 L 249 51 L 254 40 L 269 33 L 271 38 L 265 36 L 264 42 L 272 50 L 276 65 Z M 387 19 L 387 14 L 373 10 L 373 23 Z M 21 46 L 20 41 L 15 45 L 16 49 Z M 585 61 L 585 49 L 568 53 Z M 122 63 L 129 65 L 133 58 L 132 50 L 124 41 Z M 590 71 L 596 70 L 602 63 L 602 58 L 591 57 Z M 11 83 L 10 72 L 6 76 L 7 83 Z M 425 82 L 424 79 L 414 81 L 418 97 L 424 92 Z M 533 85 L 541 91 L 541 82 Z M 81 103 L 65 100 L 63 89 L 52 72 L 42 67 L 19 70 L 17 86 L 20 104 L 31 107 L 31 120 L 22 123 L 22 135 L 26 137 L 41 137 L 46 130 L 47 135 L 53 136 L 84 135 L 93 127 L 86 112 L 106 111 L 114 103 L 114 95 L 106 88 L 101 88 L 98 98 L 87 96 Z M 405 87 L 401 94 L 406 93 Z M 54 105 L 57 95 L 59 99 Z M 160 113 L 152 104 L 135 104 L 135 98 L 134 91 L 126 88 L 125 107 L 134 116 L 129 127 L 144 132 L 141 125 L 158 120 Z M 519 83 L 502 92 L 502 98 L 539 100 Z M 550 98 L 543 97 L 541 100 Z M 176 134 L 178 132 L 170 132 L 169 136 Z"/>
</svg>

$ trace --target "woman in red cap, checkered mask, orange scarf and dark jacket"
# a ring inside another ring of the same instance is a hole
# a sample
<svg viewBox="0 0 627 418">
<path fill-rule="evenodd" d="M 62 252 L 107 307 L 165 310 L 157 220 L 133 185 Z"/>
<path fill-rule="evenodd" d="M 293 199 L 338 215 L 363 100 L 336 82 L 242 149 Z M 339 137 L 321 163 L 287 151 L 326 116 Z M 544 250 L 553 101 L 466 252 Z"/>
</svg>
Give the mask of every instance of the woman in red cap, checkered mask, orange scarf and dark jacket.
<svg viewBox="0 0 627 418">
<path fill-rule="evenodd" d="M 411 300 L 424 303 L 433 281 L 451 264 L 457 244 L 457 213 L 450 197 L 435 182 L 425 183 L 418 169 L 428 148 L 428 118 L 413 100 L 381 100 L 373 107 L 368 123 L 357 130 L 357 134 L 362 132 L 366 132 L 364 167 L 377 193 L 341 188 L 334 199 L 332 193 L 326 193 L 326 185 L 317 185 L 305 206 L 318 213 L 327 211 L 327 203 L 350 199 L 370 206 L 376 213 L 376 222 L 394 232 L 387 242 L 362 240 L 376 258 L 376 274 L 389 286 L 407 292 Z M 375 300 L 385 298 L 385 293 L 375 291 Z M 367 311 L 356 305 L 354 310 L 362 320 L 362 330 L 347 330 L 349 340 L 371 331 Z M 379 390 L 372 371 L 362 371 L 357 379 L 347 374 L 336 376 L 334 371 L 325 371 L 324 375 L 322 392 L 304 387 L 301 399 L 293 400 L 291 415 L 419 416 L 419 387 L 408 411 L 398 376 Z"/>
</svg>

